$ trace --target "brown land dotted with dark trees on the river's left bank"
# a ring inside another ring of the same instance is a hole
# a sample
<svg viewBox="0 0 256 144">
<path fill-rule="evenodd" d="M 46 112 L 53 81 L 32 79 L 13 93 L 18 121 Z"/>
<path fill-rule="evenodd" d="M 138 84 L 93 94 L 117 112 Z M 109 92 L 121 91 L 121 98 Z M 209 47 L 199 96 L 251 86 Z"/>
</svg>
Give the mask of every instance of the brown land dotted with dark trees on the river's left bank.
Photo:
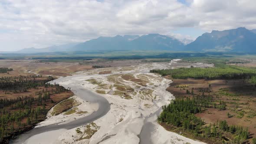
<svg viewBox="0 0 256 144">
<path fill-rule="evenodd" d="M 3 69 L 7 73 L 13 69 Z M 0 143 L 8 143 L 15 135 L 29 131 L 46 119 L 50 108 L 73 95 L 70 90 L 47 82 L 52 76 L 42 75 L 0 77 Z"/>
</svg>

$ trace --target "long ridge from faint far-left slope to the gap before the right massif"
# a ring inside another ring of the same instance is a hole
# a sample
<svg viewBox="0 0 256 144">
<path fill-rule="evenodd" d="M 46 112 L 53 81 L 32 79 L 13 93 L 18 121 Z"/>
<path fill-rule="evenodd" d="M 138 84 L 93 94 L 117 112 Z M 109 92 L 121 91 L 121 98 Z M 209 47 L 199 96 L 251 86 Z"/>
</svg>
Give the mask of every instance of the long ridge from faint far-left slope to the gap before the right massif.
<svg viewBox="0 0 256 144">
<path fill-rule="evenodd" d="M 166 40 L 164 40 L 166 39 Z M 7 53 L 40 53 L 40 52 L 63 52 L 63 51 L 93 51 L 93 50 L 179 50 L 184 44 L 176 39 L 160 34 L 147 35 L 116 35 L 114 37 L 100 36 L 83 43 L 72 43 L 46 48 L 24 48 L 16 52 Z M 6 52 L 5 52 L 6 53 Z"/>
</svg>

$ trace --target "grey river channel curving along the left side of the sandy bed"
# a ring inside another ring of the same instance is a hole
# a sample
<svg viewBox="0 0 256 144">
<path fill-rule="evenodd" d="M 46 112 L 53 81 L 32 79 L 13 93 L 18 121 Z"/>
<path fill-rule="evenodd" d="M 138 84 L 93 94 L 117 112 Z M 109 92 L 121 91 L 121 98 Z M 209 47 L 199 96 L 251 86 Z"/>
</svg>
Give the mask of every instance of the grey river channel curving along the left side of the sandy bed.
<svg viewBox="0 0 256 144">
<path fill-rule="evenodd" d="M 61 77 L 59 79 L 53 80 L 50 83 L 58 83 L 61 82 L 63 79 L 70 79 L 74 76 L 68 76 L 68 77 Z M 98 110 L 93 112 L 91 115 L 88 115 L 84 118 L 77 119 L 75 121 L 71 121 L 67 124 L 53 124 L 48 125 L 45 127 L 39 127 L 39 128 L 33 128 L 30 131 L 27 131 L 17 137 L 15 137 L 12 141 L 10 141 L 10 144 L 28 144 L 28 139 L 36 134 L 41 134 L 43 132 L 47 131 L 55 131 L 59 129 L 72 129 L 79 127 L 81 125 L 90 123 L 92 121 L 95 121 L 98 118 L 101 118 L 105 114 L 108 113 L 110 110 L 110 104 L 108 101 L 102 97 L 101 95 L 98 95 L 97 93 L 91 92 L 82 86 L 76 85 L 76 83 L 72 83 L 70 85 L 62 85 L 64 87 L 69 87 L 72 89 L 72 92 L 74 92 L 75 95 L 79 95 L 80 98 L 82 98 L 84 101 L 90 101 L 91 103 L 97 103 L 98 104 Z"/>
</svg>

